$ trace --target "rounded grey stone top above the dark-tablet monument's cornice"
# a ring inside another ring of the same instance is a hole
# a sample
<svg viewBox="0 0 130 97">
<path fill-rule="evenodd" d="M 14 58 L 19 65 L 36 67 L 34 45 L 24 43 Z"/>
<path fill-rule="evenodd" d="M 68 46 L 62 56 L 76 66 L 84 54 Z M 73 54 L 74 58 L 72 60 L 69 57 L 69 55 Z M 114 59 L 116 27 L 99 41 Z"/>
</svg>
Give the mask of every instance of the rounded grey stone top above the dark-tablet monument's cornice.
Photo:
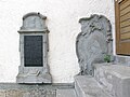
<svg viewBox="0 0 130 97">
<path fill-rule="evenodd" d="M 18 32 L 48 31 L 48 28 L 46 26 L 46 18 L 47 16 L 43 16 L 40 13 L 27 13 L 23 16 L 23 26 Z"/>
</svg>

